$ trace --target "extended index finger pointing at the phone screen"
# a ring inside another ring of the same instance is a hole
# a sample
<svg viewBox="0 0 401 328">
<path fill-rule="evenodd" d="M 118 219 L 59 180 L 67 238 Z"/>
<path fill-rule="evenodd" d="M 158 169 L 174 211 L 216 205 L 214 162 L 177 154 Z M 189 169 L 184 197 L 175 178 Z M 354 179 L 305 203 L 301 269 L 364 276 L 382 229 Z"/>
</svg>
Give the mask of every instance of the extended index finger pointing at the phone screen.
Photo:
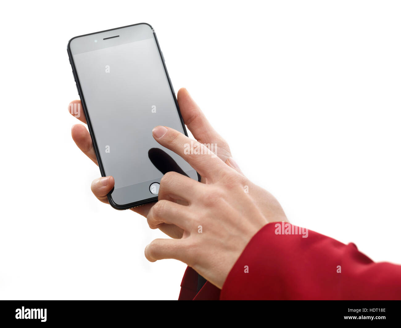
<svg viewBox="0 0 401 328">
<path fill-rule="evenodd" d="M 227 165 L 215 155 L 211 149 L 212 145 L 204 145 L 198 141 L 189 139 L 177 130 L 161 125 L 152 131 L 154 139 L 160 145 L 174 151 L 189 163 L 198 173 L 204 177 L 213 179 L 219 175 Z M 217 147 L 213 144 L 213 148 Z"/>
</svg>

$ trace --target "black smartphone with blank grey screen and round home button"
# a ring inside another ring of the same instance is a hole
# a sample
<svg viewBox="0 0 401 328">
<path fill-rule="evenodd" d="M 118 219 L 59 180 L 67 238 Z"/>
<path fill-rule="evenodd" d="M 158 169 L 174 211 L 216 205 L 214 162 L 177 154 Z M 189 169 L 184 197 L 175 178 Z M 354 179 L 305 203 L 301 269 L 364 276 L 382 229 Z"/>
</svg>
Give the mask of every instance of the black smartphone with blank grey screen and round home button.
<svg viewBox="0 0 401 328">
<path fill-rule="evenodd" d="M 115 180 L 107 195 L 112 207 L 157 201 L 160 179 L 169 171 L 200 181 L 152 136 L 157 125 L 188 135 L 152 26 L 75 36 L 67 52 L 101 175 Z"/>
</svg>

